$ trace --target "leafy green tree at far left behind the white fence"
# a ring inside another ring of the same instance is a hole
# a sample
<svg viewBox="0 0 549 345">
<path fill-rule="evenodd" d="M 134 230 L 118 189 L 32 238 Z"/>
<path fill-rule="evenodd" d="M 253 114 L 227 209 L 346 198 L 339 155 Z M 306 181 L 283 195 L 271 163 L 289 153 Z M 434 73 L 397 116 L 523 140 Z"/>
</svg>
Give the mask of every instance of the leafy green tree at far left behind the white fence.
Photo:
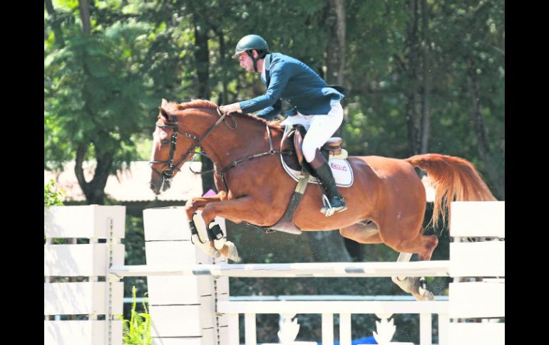
<svg viewBox="0 0 549 345">
<path fill-rule="evenodd" d="M 56 16 L 45 22 L 46 28 L 63 27 L 64 32 L 45 42 L 44 167 L 75 159 L 86 200 L 101 204 L 108 174 L 135 156 L 135 134 L 143 130 L 148 80 L 141 74 L 138 51 L 148 26 L 120 18 L 116 6 L 76 5 L 63 9 L 61 26 Z M 93 16 L 98 21 L 92 25 Z M 86 181 L 83 162 L 91 158 L 96 161 L 93 179 Z"/>
</svg>

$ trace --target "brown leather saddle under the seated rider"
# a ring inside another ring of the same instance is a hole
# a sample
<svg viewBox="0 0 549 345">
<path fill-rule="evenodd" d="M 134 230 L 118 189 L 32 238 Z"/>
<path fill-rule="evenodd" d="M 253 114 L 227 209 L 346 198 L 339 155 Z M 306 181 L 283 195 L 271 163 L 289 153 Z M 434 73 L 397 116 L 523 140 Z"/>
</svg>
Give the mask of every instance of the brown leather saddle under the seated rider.
<svg viewBox="0 0 549 345">
<path fill-rule="evenodd" d="M 288 132 L 284 133 L 282 137 L 282 151 L 291 151 L 292 154 L 282 156 L 284 163 L 289 166 L 289 168 L 297 171 L 305 169 L 314 177 L 317 177 L 314 169 L 311 168 L 309 163 L 304 160 L 302 152 L 302 143 L 303 138 L 307 134 L 307 129 L 301 124 L 294 124 L 294 127 Z M 322 147 L 320 148 L 321 154 L 324 158 L 329 161 L 330 159 L 346 159 L 347 150 L 342 149 L 343 139 L 339 137 L 330 138 Z"/>
</svg>

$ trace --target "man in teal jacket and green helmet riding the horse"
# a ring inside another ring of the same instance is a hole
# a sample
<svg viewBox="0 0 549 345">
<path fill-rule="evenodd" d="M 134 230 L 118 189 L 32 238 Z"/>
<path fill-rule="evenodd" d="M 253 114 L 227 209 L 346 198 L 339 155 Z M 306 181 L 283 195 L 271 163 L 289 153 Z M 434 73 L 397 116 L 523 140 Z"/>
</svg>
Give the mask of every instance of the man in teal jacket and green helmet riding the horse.
<svg viewBox="0 0 549 345">
<path fill-rule="evenodd" d="M 320 76 L 301 61 L 271 53 L 267 42 L 257 35 L 247 35 L 238 41 L 233 58 L 249 73 L 260 73 L 267 88 L 265 95 L 220 107 L 224 114 L 256 112 L 257 117 L 272 120 L 280 111 L 282 99 L 287 100 L 296 112 L 281 125 L 302 124 L 307 131 L 302 150 L 305 160 L 319 177 L 326 190 L 329 203 L 335 212 L 347 210 L 344 198 L 337 191 L 332 169 L 319 147 L 332 137 L 343 121 L 343 108 L 339 103 L 344 95 L 329 87 Z M 329 206 L 321 208 L 326 214 Z M 328 216 L 331 216 L 329 213 Z"/>
</svg>

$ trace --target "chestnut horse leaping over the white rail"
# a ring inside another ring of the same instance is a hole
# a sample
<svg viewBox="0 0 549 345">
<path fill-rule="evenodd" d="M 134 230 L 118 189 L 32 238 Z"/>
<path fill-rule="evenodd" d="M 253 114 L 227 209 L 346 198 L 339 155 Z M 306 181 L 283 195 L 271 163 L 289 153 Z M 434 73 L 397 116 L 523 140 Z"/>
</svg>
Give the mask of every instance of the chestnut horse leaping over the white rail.
<svg viewBox="0 0 549 345">
<path fill-rule="evenodd" d="M 206 100 L 183 104 L 163 100 L 153 133 L 150 188 L 157 195 L 168 189 L 180 166 L 201 147 L 214 162 L 215 186 L 220 192 L 188 201 L 188 219 L 192 221 L 195 211 L 202 210 L 210 228 L 215 226 L 216 216 L 235 223 L 272 226 L 284 215 L 297 184 L 284 171 L 279 152 L 272 149 L 280 148 L 283 132 L 277 122 L 253 115 L 221 115 L 217 105 Z M 439 216 L 444 219 L 450 201 L 495 200 L 473 164 L 458 157 L 421 154 L 407 159 L 349 156 L 347 160 L 354 182 L 339 192 L 349 209 L 322 216 L 321 192 L 309 188 L 294 213 L 297 228 L 339 229 L 343 237 L 358 243 L 388 245 L 401 253 L 399 261 L 409 261 L 412 253 L 418 254 L 419 260 L 430 260 L 438 239 L 423 235 L 426 189 L 414 167 L 426 171 L 435 188 L 433 224 Z M 238 260 L 232 243 L 216 245 L 217 239 L 211 238 L 211 233 L 209 237 L 210 255 L 221 253 Z M 419 278 L 393 280 L 416 299 L 433 298 L 421 289 Z"/>
</svg>

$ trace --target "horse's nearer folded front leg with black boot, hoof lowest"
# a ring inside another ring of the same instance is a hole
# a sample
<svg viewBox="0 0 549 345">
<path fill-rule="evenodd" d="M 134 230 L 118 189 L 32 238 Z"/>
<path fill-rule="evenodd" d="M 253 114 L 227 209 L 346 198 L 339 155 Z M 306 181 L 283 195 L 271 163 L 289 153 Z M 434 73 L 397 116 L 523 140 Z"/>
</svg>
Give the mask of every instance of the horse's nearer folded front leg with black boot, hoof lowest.
<svg viewBox="0 0 549 345">
<path fill-rule="evenodd" d="M 257 212 L 255 202 L 255 198 L 252 196 L 242 196 L 218 203 L 208 203 L 202 210 L 202 218 L 210 236 L 210 246 L 235 262 L 240 261 L 237 248 L 234 243 L 227 241 L 225 235 L 222 234 L 220 225 L 214 220 L 215 217 L 220 216 L 235 223 L 242 221 L 261 223 L 262 215 Z"/>
</svg>

